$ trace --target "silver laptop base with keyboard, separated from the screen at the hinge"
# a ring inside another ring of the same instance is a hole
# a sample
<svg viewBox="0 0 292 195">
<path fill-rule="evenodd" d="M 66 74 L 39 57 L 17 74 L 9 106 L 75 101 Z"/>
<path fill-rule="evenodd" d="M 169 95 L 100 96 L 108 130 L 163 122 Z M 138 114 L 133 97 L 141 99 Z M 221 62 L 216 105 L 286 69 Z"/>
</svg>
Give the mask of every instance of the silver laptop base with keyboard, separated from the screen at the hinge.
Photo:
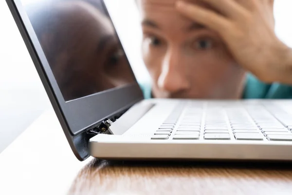
<svg viewBox="0 0 292 195">
<path fill-rule="evenodd" d="M 90 139 L 122 159 L 291 160 L 290 100 L 143 100 Z"/>
</svg>

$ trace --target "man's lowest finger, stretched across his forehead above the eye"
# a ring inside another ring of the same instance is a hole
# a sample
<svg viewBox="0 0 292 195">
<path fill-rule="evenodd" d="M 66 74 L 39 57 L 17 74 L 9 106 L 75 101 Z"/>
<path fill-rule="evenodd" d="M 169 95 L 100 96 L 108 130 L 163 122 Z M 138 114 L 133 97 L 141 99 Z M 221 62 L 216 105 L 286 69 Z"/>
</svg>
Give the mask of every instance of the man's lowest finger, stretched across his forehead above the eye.
<svg viewBox="0 0 292 195">
<path fill-rule="evenodd" d="M 180 13 L 184 16 L 209 27 L 219 34 L 221 34 L 224 29 L 228 29 L 230 26 L 229 20 L 212 10 L 184 1 L 178 1 L 176 6 Z"/>
</svg>

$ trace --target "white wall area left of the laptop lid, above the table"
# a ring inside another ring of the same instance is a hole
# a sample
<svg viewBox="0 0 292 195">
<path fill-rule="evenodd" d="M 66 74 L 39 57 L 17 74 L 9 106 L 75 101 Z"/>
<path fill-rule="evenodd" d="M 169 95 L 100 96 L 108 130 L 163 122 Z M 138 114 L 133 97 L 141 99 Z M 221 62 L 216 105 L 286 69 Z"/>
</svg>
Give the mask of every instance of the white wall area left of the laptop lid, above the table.
<svg viewBox="0 0 292 195">
<path fill-rule="evenodd" d="M 1 152 L 50 102 L 5 0 L 0 0 L 0 25 Z"/>
</svg>

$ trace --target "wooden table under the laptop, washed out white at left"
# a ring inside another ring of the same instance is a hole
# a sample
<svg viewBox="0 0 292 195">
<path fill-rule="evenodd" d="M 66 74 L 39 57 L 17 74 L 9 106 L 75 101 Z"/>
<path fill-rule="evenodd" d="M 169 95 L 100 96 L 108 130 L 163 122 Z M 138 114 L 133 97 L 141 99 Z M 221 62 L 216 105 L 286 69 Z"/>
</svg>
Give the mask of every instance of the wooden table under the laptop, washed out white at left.
<svg viewBox="0 0 292 195">
<path fill-rule="evenodd" d="M 78 161 L 52 110 L 0 154 L 0 195 L 292 195 L 292 164 Z"/>
</svg>

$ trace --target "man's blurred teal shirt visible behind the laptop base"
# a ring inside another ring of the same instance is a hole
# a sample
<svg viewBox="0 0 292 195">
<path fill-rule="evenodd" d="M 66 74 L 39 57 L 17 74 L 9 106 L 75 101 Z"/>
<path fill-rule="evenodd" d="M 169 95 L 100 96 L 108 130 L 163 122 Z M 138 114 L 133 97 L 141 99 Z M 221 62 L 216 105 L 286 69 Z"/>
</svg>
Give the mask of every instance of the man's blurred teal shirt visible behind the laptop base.
<svg viewBox="0 0 292 195">
<path fill-rule="evenodd" d="M 146 99 L 151 98 L 151 85 L 141 84 L 141 89 Z M 280 83 L 266 84 L 259 81 L 253 75 L 248 74 L 243 92 L 243 99 L 290 99 L 292 98 L 292 86 Z"/>
</svg>

